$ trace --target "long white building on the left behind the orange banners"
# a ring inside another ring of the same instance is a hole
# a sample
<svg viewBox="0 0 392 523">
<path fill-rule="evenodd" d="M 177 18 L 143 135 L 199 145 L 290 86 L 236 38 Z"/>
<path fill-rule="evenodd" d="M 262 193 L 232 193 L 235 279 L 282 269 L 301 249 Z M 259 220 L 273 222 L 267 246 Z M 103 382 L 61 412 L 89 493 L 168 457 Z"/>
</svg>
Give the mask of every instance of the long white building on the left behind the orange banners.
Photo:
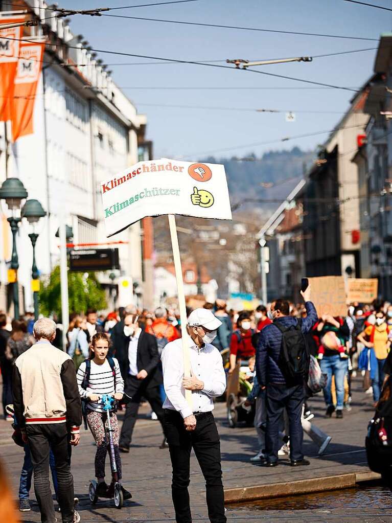
<svg viewBox="0 0 392 523">
<path fill-rule="evenodd" d="M 26 0 L 24 4 L 32 16 L 41 20 L 38 27 L 25 28 L 25 35 L 45 33 L 49 42 L 56 42 L 56 47 L 47 46 L 45 51 L 34 106 L 34 133 L 19 138 L 13 146 L 8 145 L 7 165 L 6 154 L 0 156 L 0 181 L 17 176 L 26 187 L 28 198 L 38 199 L 47 211 L 47 218 L 38 225 L 36 249 L 38 269 L 47 275 L 59 263 L 59 240 L 55 233 L 61 214 L 73 228 L 75 244 L 97 243 L 105 247 L 100 183 L 137 162 L 138 141 L 144 137 L 146 118 L 137 114 L 132 102 L 97 60 L 96 53 L 86 48 L 87 42 L 80 43 L 83 37 L 74 36 L 64 19 L 42 21 L 48 17 L 48 11 L 43 9 L 47 4 L 42 0 Z M 2 152 L 7 148 L 4 125 L 0 122 Z M 9 136 L 9 122 L 7 127 Z M 0 252 L 0 309 L 3 310 L 11 245 L 10 229 L 5 223 L 7 215 L 3 204 L 0 231 L 4 245 Z M 32 309 L 32 248 L 28 232 L 28 225 L 22 224 L 17 242 L 18 278 L 25 290 L 26 308 Z M 119 247 L 121 276 L 133 278 L 141 285 L 140 232 L 138 223 L 110 240 L 124 242 L 111 245 Z M 103 283 L 111 283 L 103 273 L 99 278 Z"/>
</svg>

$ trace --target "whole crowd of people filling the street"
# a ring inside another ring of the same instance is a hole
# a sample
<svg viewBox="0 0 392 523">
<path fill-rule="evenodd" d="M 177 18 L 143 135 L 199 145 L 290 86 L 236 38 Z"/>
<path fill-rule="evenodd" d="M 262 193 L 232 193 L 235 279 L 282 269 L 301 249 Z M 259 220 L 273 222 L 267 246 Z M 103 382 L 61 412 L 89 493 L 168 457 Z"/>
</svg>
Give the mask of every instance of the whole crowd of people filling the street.
<svg viewBox="0 0 392 523">
<path fill-rule="evenodd" d="M 189 446 L 193 446 L 206 477 L 207 493 L 209 489 L 212 493 L 209 509 L 215 510 L 216 517 L 211 521 L 224 521 L 220 459 L 213 467 L 203 454 L 203 445 L 199 444 L 198 438 L 205 435 L 195 428 L 199 429 L 201 419 L 213 408 L 213 398 L 223 395 L 226 381 L 235 376 L 238 368 L 247 368 L 248 393 L 240 399 L 240 407 L 252 409 L 258 440 L 256 455 L 250 456 L 250 461 L 263 467 L 276 467 L 279 457 L 286 455 L 293 467 L 308 465 L 303 453 L 304 432 L 315 442 L 318 453 L 324 453 L 331 437 L 310 423 L 314 414 L 307 401 L 314 391 L 304 381 L 308 372 L 304 369 L 309 369 L 310 361 L 310 367 L 313 365 L 319 370 L 320 382 L 324 379 L 317 390 L 324 394 L 325 416 L 335 413 L 339 419 L 344 410 L 351 410 L 351 381 L 356 375 L 363 376 L 366 392 L 373 394 L 376 406 L 385 373 L 389 374 L 388 369 L 392 368 L 392 356 L 389 356 L 392 304 L 352 304 L 345 317 L 330 314 L 318 317 L 310 301 L 310 288 L 302 295 L 303 304 L 281 299 L 259 305 L 253 311 L 227 310 L 223 300 L 205 303 L 196 311 L 188 310 L 190 349 L 194 349 L 190 352 L 192 369 L 193 365 L 204 366 L 199 377 L 212 373 L 208 385 L 206 379 L 183 378 L 181 369 L 178 373 L 174 361 L 181 358 L 173 355 L 176 351 L 181 353 L 182 345 L 180 314 L 176 310 L 163 306 L 155 311 L 137 310 L 130 305 L 106 315 L 95 310 L 72 314 L 65 350 L 57 350 L 62 349 L 60 324 L 45 318 L 34 323 L 31 314 L 10 321 L 6 314 L 0 313 L 3 412 L 5 419 L 14 422 L 14 439 L 25 452 L 20 476 L 20 510 L 30 509 L 29 491 L 34 470 L 41 513 L 47 517 L 45 520 L 52 521 L 52 498 L 44 481 L 49 463 L 63 521 L 79 520 L 73 508 L 70 446 L 64 434 L 71 430 L 71 445 L 77 445 L 82 424 L 80 405 L 96 441 L 97 494 L 113 496 L 113 482 L 105 481 L 107 419 L 100 402 L 103 394 L 109 394 L 125 410 L 121 433 L 114 406 L 110 411 L 119 479 L 121 453 L 130 451 L 139 406 L 147 401 L 152 417 L 162 425 L 160 447 L 170 450 L 174 470 L 172 495 L 178 520 L 190 516 L 186 497 L 189 463 L 184 469 L 184 460 L 189 458 Z M 43 355 L 42 347 L 51 350 Z M 200 359 L 201 354 L 204 359 Z M 293 354 L 299 362 L 295 365 Z M 43 386 L 44 390 L 54 392 L 53 402 L 62 397 L 60 406 L 51 405 L 45 392 L 37 396 L 37 381 L 31 378 L 37 365 L 40 372 L 43 367 L 60 369 L 59 377 L 52 377 L 52 382 L 45 382 Z M 193 410 L 185 400 L 185 390 L 192 391 Z M 54 418 L 58 418 L 55 423 Z M 62 426 L 62 422 L 66 425 Z M 203 423 L 212 423 L 209 430 L 216 431 L 213 418 L 205 418 Z M 188 432 L 191 439 L 187 439 Z M 208 440 L 211 435 L 206 437 Z M 43 440 L 48 441 L 47 447 L 42 447 Z M 209 440 L 207 443 L 212 445 Z M 183 445 L 181 451 L 178 445 L 181 449 Z M 124 488 L 122 491 L 124 499 L 132 497 Z"/>
</svg>

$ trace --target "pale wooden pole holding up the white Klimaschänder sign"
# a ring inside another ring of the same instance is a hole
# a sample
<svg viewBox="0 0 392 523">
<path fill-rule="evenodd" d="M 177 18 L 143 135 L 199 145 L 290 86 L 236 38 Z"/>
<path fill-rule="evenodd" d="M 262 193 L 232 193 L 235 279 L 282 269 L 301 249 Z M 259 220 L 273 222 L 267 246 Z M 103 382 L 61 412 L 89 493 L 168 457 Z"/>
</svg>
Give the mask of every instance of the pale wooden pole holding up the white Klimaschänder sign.
<svg viewBox="0 0 392 523">
<path fill-rule="evenodd" d="M 182 336 L 182 352 L 184 358 L 184 377 L 190 378 L 191 376 L 191 363 L 189 358 L 189 334 L 187 332 L 187 308 L 185 305 L 185 292 L 184 292 L 184 282 L 182 279 L 182 268 L 181 268 L 181 258 L 180 258 L 180 248 L 178 245 L 178 236 L 177 236 L 177 227 L 176 227 L 176 217 L 174 214 L 168 214 L 169 219 L 169 229 L 170 229 L 170 238 L 171 238 L 171 248 L 173 250 L 173 259 L 174 259 L 174 268 L 176 270 L 176 280 L 177 280 L 177 294 L 178 294 L 178 304 L 180 309 L 180 319 L 181 319 L 181 336 Z M 192 391 L 185 391 L 185 397 L 189 405 L 192 407 Z"/>
</svg>

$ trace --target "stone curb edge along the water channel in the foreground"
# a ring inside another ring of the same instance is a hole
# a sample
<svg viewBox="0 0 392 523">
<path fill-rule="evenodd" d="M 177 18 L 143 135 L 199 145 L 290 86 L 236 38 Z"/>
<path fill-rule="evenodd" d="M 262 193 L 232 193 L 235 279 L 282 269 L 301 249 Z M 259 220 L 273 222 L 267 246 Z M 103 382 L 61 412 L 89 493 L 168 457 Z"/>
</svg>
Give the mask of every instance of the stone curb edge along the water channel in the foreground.
<svg viewBox="0 0 392 523">
<path fill-rule="evenodd" d="M 313 477 L 307 480 L 287 481 L 264 485 L 253 485 L 239 488 L 225 489 L 225 503 L 240 503 L 257 499 L 292 496 L 295 494 L 309 494 L 338 490 L 353 487 L 364 481 L 379 479 L 381 476 L 368 470 L 366 472 L 352 472 L 337 476 Z"/>
</svg>

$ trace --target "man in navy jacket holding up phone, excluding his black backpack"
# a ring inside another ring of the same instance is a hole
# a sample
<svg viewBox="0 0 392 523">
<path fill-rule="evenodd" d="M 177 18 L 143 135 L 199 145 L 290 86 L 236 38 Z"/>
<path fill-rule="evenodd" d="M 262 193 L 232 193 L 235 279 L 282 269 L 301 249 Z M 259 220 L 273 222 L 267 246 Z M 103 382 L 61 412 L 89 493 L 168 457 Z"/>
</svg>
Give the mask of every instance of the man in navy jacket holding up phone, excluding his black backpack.
<svg viewBox="0 0 392 523">
<path fill-rule="evenodd" d="M 301 330 L 304 334 L 317 322 L 317 312 L 310 299 L 310 286 L 301 292 L 305 300 L 306 318 L 302 320 Z M 284 408 L 290 422 L 290 460 L 293 467 L 308 465 L 302 452 L 303 430 L 301 425 L 302 406 L 305 400 L 304 382 L 287 384 L 278 360 L 281 352 L 282 333 L 276 326 L 287 328 L 297 325 L 298 320 L 290 316 L 290 305 L 286 300 L 276 300 L 271 305 L 273 323 L 263 328 L 256 352 L 257 379 L 262 389 L 267 389 L 267 460 L 265 467 L 278 464 L 279 425 Z"/>
</svg>

